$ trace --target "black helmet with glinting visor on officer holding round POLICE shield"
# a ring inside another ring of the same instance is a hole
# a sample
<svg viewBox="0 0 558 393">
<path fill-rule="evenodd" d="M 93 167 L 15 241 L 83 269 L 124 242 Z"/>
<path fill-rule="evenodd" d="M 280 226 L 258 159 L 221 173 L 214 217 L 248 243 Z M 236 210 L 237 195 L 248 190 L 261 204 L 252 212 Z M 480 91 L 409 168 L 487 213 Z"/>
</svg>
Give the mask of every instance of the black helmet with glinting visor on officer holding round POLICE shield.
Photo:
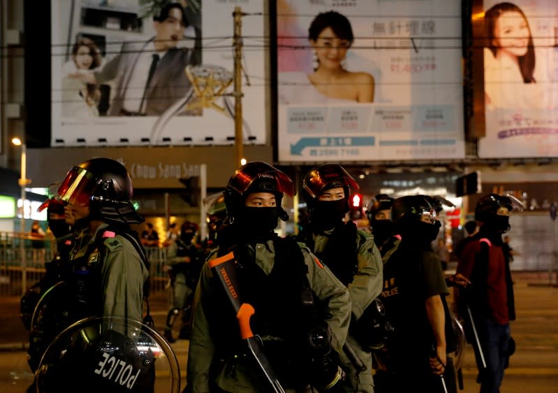
<svg viewBox="0 0 558 393">
<path fill-rule="evenodd" d="M 68 171 L 54 199 L 78 206 L 89 205 L 90 220 L 140 224 L 144 218 L 135 211 L 132 194 L 132 180 L 124 165 L 99 157 Z"/>
</svg>

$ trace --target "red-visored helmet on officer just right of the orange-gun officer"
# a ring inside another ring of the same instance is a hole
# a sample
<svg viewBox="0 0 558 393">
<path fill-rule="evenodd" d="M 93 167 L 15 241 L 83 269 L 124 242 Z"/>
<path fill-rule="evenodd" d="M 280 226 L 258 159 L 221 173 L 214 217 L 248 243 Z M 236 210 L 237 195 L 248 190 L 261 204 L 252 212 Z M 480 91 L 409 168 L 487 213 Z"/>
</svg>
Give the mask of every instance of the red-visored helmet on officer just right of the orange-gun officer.
<svg viewBox="0 0 558 393">
<path fill-rule="evenodd" d="M 348 199 L 349 189 L 358 191 L 360 188 L 353 176 L 349 175 L 342 166 L 337 164 L 316 166 L 302 180 L 302 195 L 311 208 L 322 192 L 336 187 L 344 188 L 346 199 Z"/>
</svg>

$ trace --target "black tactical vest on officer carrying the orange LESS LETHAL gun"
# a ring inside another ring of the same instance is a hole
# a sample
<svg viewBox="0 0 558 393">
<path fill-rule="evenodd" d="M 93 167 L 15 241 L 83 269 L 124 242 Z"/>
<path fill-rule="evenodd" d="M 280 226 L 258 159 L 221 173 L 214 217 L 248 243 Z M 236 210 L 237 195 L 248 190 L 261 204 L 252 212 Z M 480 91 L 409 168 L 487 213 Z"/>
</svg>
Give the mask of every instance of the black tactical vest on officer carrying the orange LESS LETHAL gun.
<svg viewBox="0 0 558 393">
<path fill-rule="evenodd" d="M 254 306 L 256 313 L 250 325 L 254 334 L 264 341 L 265 354 L 278 374 L 287 364 L 304 357 L 307 333 L 315 321 L 301 298 L 309 288 L 307 266 L 300 245 L 292 238 L 274 239 L 274 265 L 266 275 L 256 264 L 254 256 L 238 250 L 236 278 L 240 299 Z M 230 307 L 221 283 L 214 280 L 208 296 L 212 307 L 208 320 L 216 342 L 217 357 L 242 357 L 245 345 L 240 338 L 236 315 Z M 323 320 L 322 320 L 323 321 Z"/>
</svg>

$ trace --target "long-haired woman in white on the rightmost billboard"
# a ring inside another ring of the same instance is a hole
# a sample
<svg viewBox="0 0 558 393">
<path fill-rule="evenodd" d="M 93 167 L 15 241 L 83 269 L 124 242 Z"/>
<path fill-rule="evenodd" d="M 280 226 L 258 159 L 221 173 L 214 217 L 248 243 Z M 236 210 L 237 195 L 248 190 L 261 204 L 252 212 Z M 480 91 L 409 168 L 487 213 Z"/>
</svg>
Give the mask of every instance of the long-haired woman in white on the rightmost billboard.
<svg viewBox="0 0 558 393">
<path fill-rule="evenodd" d="M 487 107 L 515 108 L 519 105 L 540 108 L 541 91 L 535 85 L 535 47 L 523 11 L 513 3 L 495 4 L 485 13 L 485 31 Z M 524 102 L 518 103 L 519 97 Z"/>
</svg>

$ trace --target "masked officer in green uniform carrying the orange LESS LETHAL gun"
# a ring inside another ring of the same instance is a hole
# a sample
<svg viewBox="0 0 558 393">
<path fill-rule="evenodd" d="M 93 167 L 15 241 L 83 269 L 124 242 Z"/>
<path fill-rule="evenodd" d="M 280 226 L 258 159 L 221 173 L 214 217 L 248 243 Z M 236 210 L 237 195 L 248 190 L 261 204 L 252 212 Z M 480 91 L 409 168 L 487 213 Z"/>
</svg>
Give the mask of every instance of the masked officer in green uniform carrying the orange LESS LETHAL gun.
<svg viewBox="0 0 558 393">
<path fill-rule="evenodd" d="M 310 384 L 333 387 L 342 378 L 332 355 L 346 338 L 348 292 L 307 248 L 275 234 L 278 219 L 288 219 L 281 208 L 284 194 L 293 196 L 292 180 L 265 162 L 245 164 L 228 181 L 224 192 L 228 217 L 219 231 L 219 248 L 203 266 L 194 297 L 186 373 L 189 392 L 271 390 L 268 374 L 258 369 L 240 337 L 230 294 L 254 306 L 251 328 L 263 341 L 265 357 L 287 391 L 304 390 Z M 235 278 L 227 275 L 220 281 L 220 273 L 211 266 L 231 252 Z M 309 327 L 316 303 L 324 312 Z"/>
</svg>

